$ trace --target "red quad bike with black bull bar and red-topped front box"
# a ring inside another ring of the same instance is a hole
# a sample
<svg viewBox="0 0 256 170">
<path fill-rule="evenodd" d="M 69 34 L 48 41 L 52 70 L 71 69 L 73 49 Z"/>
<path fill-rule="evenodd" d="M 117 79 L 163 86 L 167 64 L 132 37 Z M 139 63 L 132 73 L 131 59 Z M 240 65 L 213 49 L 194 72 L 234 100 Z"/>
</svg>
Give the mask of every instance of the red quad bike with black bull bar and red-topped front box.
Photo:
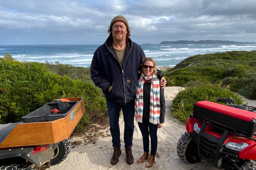
<svg viewBox="0 0 256 170">
<path fill-rule="evenodd" d="M 219 169 L 256 170 L 256 107 L 236 105 L 233 98 L 194 104 L 177 153 L 186 163 L 204 160 Z"/>
</svg>

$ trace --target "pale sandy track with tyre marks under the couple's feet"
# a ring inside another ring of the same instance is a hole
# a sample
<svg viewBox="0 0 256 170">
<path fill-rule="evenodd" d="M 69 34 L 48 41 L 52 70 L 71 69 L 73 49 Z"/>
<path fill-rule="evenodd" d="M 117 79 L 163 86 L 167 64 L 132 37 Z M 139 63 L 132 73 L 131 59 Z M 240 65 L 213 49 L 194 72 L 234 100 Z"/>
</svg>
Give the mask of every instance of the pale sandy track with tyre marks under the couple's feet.
<svg viewBox="0 0 256 170">
<path fill-rule="evenodd" d="M 96 143 L 80 145 L 71 148 L 69 156 L 59 165 L 51 166 L 49 170 L 70 170 L 70 169 L 83 169 L 83 170 L 142 170 L 142 169 L 155 169 L 155 170 L 217 170 L 211 164 L 201 161 L 195 164 L 188 164 L 181 161 L 177 155 L 176 146 L 181 135 L 186 132 L 184 124 L 179 123 L 176 119 L 170 117 L 170 104 L 175 95 L 183 90 L 182 87 L 166 87 L 165 100 L 166 100 L 166 118 L 164 126 L 158 129 L 158 148 L 155 157 L 155 163 L 151 168 L 146 168 L 146 162 L 137 163 L 137 160 L 143 155 L 143 143 L 138 124 L 135 122 L 132 153 L 134 156 L 134 163 L 128 165 L 126 163 L 126 155 L 124 149 L 124 120 L 120 116 L 120 132 L 121 132 L 121 150 L 122 153 L 119 157 L 119 162 L 116 165 L 110 164 L 110 159 L 113 155 L 113 147 L 111 136 L 99 137 Z M 256 106 L 255 100 L 246 100 L 251 106 Z M 109 126 L 102 131 L 110 135 Z M 83 140 L 83 137 L 73 137 L 71 141 Z"/>
</svg>

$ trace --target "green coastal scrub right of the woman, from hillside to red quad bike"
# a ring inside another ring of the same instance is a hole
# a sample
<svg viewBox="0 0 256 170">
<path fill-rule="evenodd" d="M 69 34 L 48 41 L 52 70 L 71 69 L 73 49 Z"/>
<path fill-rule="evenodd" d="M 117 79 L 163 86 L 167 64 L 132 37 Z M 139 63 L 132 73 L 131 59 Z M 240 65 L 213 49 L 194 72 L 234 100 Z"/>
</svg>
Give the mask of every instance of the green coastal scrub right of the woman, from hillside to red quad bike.
<svg viewBox="0 0 256 170">
<path fill-rule="evenodd" d="M 171 112 L 186 122 L 197 101 L 232 97 L 256 99 L 256 51 L 228 51 L 184 59 L 165 72 L 167 86 L 186 87 L 173 100 Z M 223 104 L 223 103 L 222 103 Z"/>
</svg>

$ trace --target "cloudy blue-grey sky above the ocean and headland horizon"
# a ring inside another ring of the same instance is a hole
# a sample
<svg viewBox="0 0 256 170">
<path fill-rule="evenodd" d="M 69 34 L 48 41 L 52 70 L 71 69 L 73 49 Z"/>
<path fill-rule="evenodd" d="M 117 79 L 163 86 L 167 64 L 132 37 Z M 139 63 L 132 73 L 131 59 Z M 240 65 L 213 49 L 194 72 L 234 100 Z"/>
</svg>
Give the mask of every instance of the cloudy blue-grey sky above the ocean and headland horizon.
<svg viewBox="0 0 256 170">
<path fill-rule="evenodd" d="M 255 0 L 0 0 L 0 45 L 102 44 L 123 15 L 138 44 L 256 42 Z"/>
</svg>

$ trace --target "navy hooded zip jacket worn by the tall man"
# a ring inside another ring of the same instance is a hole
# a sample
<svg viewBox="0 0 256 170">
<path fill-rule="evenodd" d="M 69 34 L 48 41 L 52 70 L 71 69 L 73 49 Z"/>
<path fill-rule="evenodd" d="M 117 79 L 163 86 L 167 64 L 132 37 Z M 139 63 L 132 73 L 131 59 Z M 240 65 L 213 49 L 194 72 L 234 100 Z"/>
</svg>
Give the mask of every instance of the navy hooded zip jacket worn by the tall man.
<svg viewBox="0 0 256 170">
<path fill-rule="evenodd" d="M 112 42 L 113 39 L 108 37 L 106 42 L 95 51 L 91 61 L 91 79 L 97 87 L 102 89 L 106 98 L 127 103 L 135 98 L 140 63 L 145 54 L 137 43 L 128 39 L 122 69 Z M 110 86 L 112 89 L 109 92 Z"/>
</svg>

